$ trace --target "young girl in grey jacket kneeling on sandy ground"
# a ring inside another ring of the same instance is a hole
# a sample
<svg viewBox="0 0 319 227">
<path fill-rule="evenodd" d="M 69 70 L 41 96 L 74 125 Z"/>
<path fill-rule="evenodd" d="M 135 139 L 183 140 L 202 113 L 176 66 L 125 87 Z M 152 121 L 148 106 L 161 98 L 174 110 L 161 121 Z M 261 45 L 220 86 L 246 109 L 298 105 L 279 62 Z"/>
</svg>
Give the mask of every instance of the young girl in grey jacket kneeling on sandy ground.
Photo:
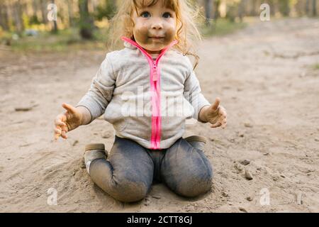
<svg viewBox="0 0 319 227">
<path fill-rule="evenodd" d="M 93 182 L 119 201 L 144 198 L 154 181 L 181 196 L 211 187 L 206 139 L 182 138 L 189 118 L 226 126 L 220 99 L 205 99 L 186 57 L 194 55 L 191 37 L 199 35 L 193 14 L 186 0 L 123 1 L 113 32 L 125 48 L 108 52 L 79 104 L 62 104 L 67 111 L 55 119 L 55 139 L 102 114 L 113 124 L 109 155 L 103 144 L 89 144 L 84 161 Z"/>
</svg>

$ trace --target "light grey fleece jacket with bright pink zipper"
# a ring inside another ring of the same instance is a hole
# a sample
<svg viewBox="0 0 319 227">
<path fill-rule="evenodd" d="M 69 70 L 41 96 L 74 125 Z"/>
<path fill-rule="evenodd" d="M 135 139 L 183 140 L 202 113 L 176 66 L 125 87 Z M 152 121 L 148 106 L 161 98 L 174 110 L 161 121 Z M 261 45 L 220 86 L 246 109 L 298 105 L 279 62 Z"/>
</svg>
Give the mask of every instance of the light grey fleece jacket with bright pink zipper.
<svg viewBox="0 0 319 227">
<path fill-rule="evenodd" d="M 122 39 L 125 48 L 106 54 L 77 106 L 89 109 L 91 121 L 104 114 L 118 137 L 169 148 L 184 134 L 186 120 L 200 121 L 199 111 L 210 103 L 189 57 L 171 50 L 176 41 L 153 59 L 138 43 Z"/>
</svg>

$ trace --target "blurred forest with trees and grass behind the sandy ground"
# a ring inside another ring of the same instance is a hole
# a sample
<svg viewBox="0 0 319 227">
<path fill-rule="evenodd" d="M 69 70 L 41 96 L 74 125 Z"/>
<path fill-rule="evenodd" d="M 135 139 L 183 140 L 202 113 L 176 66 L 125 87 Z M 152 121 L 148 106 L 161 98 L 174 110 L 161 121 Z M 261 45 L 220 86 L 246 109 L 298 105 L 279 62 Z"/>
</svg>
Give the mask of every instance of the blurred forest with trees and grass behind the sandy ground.
<svg viewBox="0 0 319 227">
<path fill-rule="evenodd" d="M 317 0 L 193 0 L 201 7 L 203 36 L 245 27 L 269 4 L 272 19 L 318 16 Z M 0 0 L 0 45 L 13 50 L 103 48 L 121 0 Z M 206 18 L 206 19 L 205 19 Z M 205 21 L 206 20 L 206 21 Z M 206 23 L 205 23 L 206 22 Z"/>
</svg>

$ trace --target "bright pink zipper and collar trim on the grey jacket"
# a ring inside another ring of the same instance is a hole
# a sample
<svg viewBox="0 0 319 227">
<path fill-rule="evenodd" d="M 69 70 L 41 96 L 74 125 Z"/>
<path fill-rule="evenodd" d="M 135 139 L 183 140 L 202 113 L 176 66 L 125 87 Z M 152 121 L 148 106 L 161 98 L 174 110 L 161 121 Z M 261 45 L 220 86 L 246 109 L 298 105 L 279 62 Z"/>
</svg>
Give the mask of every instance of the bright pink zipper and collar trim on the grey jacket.
<svg viewBox="0 0 319 227">
<path fill-rule="evenodd" d="M 173 45 L 177 44 L 178 41 L 174 40 L 171 44 L 167 46 L 167 48 L 164 48 L 156 60 L 152 60 L 152 56 L 144 50 L 138 43 L 135 43 L 130 38 L 122 37 L 121 38 L 124 41 L 127 41 L 128 43 L 134 45 L 142 53 L 147 57 L 147 60 L 150 65 L 150 84 L 151 84 L 151 94 L 152 94 L 152 134 L 151 134 L 151 148 L 154 150 L 160 150 L 159 143 L 161 140 L 161 128 L 162 128 L 162 117 L 161 117 L 161 95 L 160 95 L 160 73 L 158 69 L 158 63 L 161 57 L 164 55 L 169 48 L 171 48 Z"/>
</svg>

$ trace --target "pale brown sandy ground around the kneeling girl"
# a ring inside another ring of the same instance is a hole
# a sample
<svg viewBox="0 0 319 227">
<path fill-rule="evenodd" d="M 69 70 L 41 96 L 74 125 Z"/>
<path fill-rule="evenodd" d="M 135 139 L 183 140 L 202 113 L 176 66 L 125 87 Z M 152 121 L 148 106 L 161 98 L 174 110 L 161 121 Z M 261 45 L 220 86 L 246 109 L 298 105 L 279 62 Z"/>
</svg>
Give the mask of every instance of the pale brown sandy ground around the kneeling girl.
<svg viewBox="0 0 319 227">
<path fill-rule="evenodd" d="M 205 152 L 215 174 L 211 192 L 195 199 L 156 184 L 147 198 L 125 204 L 96 187 L 82 155 L 87 143 L 110 150 L 113 127 L 106 121 L 52 141 L 62 102 L 77 104 L 105 52 L 17 55 L 0 49 L 0 211 L 319 211 L 318 20 L 254 23 L 199 46 L 203 94 L 211 102 L 220 96 L 228 128 L 187 126 L 185 136 L 208 138 Z M 21 107 L 31 109 L 15 110 Z M 57 192 L 57 205 L 47 203 L 54 194 L 49 189 Z"/>
</svg>

